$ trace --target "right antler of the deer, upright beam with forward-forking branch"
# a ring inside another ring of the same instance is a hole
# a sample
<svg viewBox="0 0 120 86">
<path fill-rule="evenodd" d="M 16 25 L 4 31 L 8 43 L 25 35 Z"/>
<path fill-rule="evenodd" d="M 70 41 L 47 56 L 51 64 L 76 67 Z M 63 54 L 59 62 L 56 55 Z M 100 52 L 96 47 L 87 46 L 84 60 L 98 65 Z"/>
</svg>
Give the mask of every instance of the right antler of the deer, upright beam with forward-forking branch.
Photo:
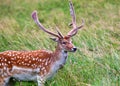
<svg viewBox="0 0 120 86">
<path fill-rule="evenodd" d="M 76 26 L 76 16 L 75 16 L 75 11 L 74 11 L 74 7 L 71 1 L 69 1 L 69 5 L 70 5 L 70 15 L 72 16 L 72 23 L 70 25 L 73 26 L 73 29 L 71 31 L 68 32 L 68 36 L 72 37 L 74 35 L 76 35 L 78 29 L 82 28 L 84 26 L 84 20 L 82 20 L 82 24 L 80 26 Z"/>
</svg>

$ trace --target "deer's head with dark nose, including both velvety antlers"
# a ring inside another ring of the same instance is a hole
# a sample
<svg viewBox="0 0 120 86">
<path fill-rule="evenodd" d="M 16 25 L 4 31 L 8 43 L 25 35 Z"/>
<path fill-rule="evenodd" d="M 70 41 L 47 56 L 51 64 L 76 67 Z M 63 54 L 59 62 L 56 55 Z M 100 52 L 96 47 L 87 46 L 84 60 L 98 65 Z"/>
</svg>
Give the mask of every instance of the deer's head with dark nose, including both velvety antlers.
<svg viewBox="0 0 120 86">
<path fill-rule="evenodd" d="M 41 30 L 56 37 L 51 39 L 58 43 L 58 46 L 60 49 L 64 51 L 75 52 L 77 48 L 72 44 L 70 38 L 76 35 L 78 30 L 84 26 L 84 21 L 82 20 L 82 24 L 80 26 L 76 26 L 76 16 L 75 16 L 74 7 L 71 1 L 69 2 L 69 5 L 70 5 L 70 14 L 72 16 L 72 23 L 70 24 L 70 26 L 72 26 L 73 29 L 69 31 L 66 36 L 63 36 L 62 33 L 58 30 L 58 28 L 56 29 L 57 34 L 51 31 L 48 31 L 38 20 L 37 11 L 34 11 L 32 13 L 32 18 L 34 19 L 35 23 L 39 26 Z"/>
</svg>

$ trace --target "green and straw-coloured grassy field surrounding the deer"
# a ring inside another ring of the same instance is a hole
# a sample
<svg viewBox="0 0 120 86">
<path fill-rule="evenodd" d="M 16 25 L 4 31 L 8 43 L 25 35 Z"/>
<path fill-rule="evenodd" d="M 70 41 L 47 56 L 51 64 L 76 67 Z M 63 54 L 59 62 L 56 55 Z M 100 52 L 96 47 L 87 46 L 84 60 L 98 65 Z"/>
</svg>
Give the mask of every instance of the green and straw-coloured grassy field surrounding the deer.
<svg viewBox="0 0 120 86">
<path fill-rule="evenodd" d="M 85 20 L 72 38 L 78 51 L 69 53 L 65 67 L 45 86 L 120 86 L 120 1 L 72 1 L 77 24 Z M 33 10 L 46 28 L 54 31 L 58 26 L 64 35 L 70 30 L 68 0 L 0 0 L 0 52 L 55 49 L 56 43 L 32 20 Z"/>
</svg>

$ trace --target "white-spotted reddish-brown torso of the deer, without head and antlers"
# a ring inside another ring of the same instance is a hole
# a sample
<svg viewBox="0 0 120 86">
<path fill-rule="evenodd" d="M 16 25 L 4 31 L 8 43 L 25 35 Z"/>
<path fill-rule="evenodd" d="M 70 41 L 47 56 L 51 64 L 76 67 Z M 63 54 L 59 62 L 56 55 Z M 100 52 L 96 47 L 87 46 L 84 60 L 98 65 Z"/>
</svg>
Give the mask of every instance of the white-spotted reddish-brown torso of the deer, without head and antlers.
<svg viewBox="0 0 120 86">
<path fill-rule="evenodd" d="M 21 81 L 47 79 L 65 64 L 66 58 L 67 52 L 59 50 L 5 51 L 0 53 L 0 79 L 6 83 L 11 77 Z"/>
</svg>

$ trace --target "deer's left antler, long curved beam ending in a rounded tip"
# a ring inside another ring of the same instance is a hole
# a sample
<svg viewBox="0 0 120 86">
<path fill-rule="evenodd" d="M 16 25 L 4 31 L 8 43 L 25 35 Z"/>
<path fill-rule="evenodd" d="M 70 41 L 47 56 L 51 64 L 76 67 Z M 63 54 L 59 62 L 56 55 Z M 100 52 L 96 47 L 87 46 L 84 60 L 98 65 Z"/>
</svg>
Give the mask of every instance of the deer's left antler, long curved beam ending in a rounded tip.
<svg viewBox="0 0 120 86">
<path fill-rule="evenodd" d="M 53 35 L 53 36 L 55 36 L 55 37 L 60 38 L 57 34 L 52 33 L 52 32 L 50 32 L 50 31 L 46 30 L 46 28 L 39 22 L 38 16 L 37 16 L 37 11 L 33 11 L 33 13 L 32 13 L 32 18 L 33 18 L 33 20 L 35 21 L 35 23 L 39 26 L 40 29 L 42 29 L 43 31 L 45 31 L 46 33 L 48 33 L 48 34 L 50 34 L 50 35 Z"/>
</svg>

